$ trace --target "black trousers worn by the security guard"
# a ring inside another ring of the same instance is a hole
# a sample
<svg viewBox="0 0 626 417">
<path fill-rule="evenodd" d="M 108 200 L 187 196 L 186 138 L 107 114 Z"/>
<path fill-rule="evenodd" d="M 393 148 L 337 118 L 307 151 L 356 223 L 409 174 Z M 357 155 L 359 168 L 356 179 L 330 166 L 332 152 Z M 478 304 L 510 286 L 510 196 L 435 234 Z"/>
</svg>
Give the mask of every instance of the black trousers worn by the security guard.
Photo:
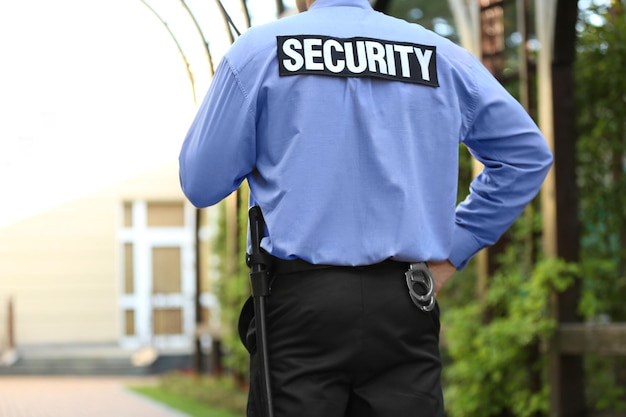
<svg viewBox="0 0 626 417">
<path fill-rule="evenodd" d="M 406 265 L 274 277 L 267 298 L 275 417 L 443 417 L 439 308 L 411 301 Z M 248 417 L 263 417 L 255 324 Z"/>
</svg>

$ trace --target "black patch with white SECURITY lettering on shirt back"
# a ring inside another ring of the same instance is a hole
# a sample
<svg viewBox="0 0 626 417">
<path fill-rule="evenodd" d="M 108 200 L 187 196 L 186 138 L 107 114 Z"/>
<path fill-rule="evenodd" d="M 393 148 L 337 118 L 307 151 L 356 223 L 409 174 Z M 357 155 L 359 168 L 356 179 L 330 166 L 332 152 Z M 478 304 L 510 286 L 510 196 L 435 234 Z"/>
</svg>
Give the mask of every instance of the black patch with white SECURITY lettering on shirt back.
<svg viewBox="0 0 626 417">
<path fill-rule="evenodd" d="M 435 46 L 322 35 L 277 36 L 276 44 L 281 77 L 376 77 L 439 87 Z"/>
</svg>

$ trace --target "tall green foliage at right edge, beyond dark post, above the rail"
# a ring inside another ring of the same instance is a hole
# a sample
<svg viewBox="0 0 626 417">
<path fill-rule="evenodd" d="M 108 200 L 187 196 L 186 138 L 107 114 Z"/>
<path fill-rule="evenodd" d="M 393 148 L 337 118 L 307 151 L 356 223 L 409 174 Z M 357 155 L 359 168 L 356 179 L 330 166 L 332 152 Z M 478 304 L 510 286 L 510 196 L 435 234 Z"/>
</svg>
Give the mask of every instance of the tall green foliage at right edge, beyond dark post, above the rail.
<svg viewBox="0 0 626 417">
<path fill-rule="evenodd" d="M 584 14 L 578 39 L 582 312 L 626 321 L 626 14 L 614 3 Z"/>
</svg>

